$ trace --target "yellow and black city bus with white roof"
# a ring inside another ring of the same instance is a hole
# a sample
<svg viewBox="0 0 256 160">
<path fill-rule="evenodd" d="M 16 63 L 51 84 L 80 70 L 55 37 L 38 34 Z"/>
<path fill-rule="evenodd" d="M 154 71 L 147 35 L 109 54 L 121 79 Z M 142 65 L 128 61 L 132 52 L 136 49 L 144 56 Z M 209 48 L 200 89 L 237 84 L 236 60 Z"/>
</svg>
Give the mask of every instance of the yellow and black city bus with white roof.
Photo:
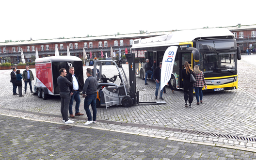
<svg viewBox="0 0 256 160">
<path fill-rule="evenodd" d="M 224 28 L 183 30 L 133 41 L 131 53 L 135 54 L 136 75 L 144 80 L 144 63 L 149 59 L 151 70 L 162 62 L 164 52 L 177 46 L 173 73 L 168 85 L 183 89 L 181 70 L 184 62 L 193 68 L 199 65 L 204 72 L 207 91 L 223 91 L 238 88 L 237 60 L 241 59 L 234 35 Z M 192 50 L 199 51 L 198 60 Z M 150 78 L 151 75 L 148 77 Z M 203 88 L 205 89 L 205 88 Z"/>
</svg>

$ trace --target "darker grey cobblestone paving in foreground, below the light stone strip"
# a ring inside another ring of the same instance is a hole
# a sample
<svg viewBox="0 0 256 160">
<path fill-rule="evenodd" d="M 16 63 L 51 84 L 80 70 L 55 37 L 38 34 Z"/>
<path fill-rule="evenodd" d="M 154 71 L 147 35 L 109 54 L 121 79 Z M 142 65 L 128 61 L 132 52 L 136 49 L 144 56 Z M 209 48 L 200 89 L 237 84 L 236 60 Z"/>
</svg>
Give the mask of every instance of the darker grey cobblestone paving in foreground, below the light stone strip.
<svg viewBox="0 0 256 160">
<path fill-rule="evenodd" d="M 256 160 L 256 153 L 200 143 L 0 115 L 0 160 Z"/>
</svg>

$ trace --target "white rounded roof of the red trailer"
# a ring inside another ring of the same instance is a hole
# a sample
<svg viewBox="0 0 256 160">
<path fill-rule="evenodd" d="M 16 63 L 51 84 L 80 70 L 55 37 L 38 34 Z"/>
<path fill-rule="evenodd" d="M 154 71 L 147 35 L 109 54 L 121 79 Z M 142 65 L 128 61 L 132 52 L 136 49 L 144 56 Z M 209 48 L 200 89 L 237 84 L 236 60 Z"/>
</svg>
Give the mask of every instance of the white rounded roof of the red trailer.
<svg viewBox="0 0 256 160">
<path fill-rule="evenodd" d="M 50 56 L 35 59 L 35 63 L 82 61 L 76 56 Z"/>
</svg>

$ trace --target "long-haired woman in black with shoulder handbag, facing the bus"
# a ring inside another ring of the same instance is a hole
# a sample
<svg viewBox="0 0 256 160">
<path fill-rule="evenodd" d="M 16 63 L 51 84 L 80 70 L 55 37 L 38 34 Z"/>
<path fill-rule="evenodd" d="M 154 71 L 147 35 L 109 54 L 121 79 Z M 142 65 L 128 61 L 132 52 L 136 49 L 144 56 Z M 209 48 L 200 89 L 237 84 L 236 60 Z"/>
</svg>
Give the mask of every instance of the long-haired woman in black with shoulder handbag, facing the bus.
<svg viewBox="0 0 256 160">
<path fill-rule="evenodd" d="M 189 63 L 186 61 L 184 63 L 184 69 L 181 71 L 181 76 L 183 79 L 183 92 L 184 92 L 184 100 L 185 100 L 185 107 L 188 107 L 188 100 L 189 100 L 189 107 L 192 107 L 193 102 L 193 87 L 194 84 L 191 82 L 191 75 L 194 76 L 193 70 L 190 67 Z M 193 78 L 193 77 L 192 77 Z"/>
</svg>

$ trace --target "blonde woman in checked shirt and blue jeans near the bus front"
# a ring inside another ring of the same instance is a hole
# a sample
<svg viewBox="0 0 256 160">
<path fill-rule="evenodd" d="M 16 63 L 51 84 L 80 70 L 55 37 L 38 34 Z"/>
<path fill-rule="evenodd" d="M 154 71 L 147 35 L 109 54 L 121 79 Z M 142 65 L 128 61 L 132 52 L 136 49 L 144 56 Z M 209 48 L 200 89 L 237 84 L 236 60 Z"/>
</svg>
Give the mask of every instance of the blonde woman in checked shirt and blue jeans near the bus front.
<svg viewBox="0 0 256 160">
<path fill-rule="evenodd" d="M 203 92 L 202 89 L 205 86 L 207 88 L 206 82 L 205 82 L 205 76 L 202 71 L 200 71 L 199 66 L 195 65 L 194 66 L 194 75 L 195 75 L 195 80 L 197 81 L 194 83 L 194 89 L 195 89 L 195 97 L 197 100 L 197 105 L 199 105 L 199 96 L 200 96 L 200 102 L 203 103 Z"/>
</svg>

